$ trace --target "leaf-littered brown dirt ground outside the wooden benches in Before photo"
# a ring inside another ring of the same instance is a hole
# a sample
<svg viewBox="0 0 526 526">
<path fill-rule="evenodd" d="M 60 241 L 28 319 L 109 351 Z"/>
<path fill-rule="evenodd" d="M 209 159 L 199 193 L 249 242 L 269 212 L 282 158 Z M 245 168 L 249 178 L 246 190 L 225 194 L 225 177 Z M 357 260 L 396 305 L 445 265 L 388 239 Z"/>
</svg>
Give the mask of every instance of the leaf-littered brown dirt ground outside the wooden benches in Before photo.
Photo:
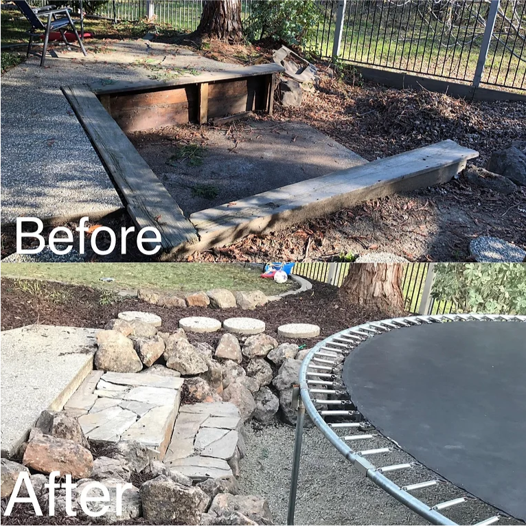
<svg viewBox="0 0 526 526">
<path fill-rule="evenodd" d="M 245 52 L 241 62 L 268 55 L 257 51 Z M 218 60 L 228 56 L 219 43 L 204 53 Z M 523 102 L 470 102 L 426 90 L 392 89 L 365 82 L 352 69 L 335 72 L 327 64 L 316 65 L 319 89 L 304 93 L 300 108 L 275 104 L 272 120 L 305 122 L 368 161 L 452 139 L 477 150 L 474 164 L 484 166 L 495 150 L 526 139 Z M 469 242 L 477 236 L 496 236 L 525 248 L 525 222 L 524 187 L 503 196 L 474 187 L 461 175 L 440 187 L 369 201 L 189 259 L 334 261 L 387 251 L 411 261 L 466 261 Z"/>
</svg>

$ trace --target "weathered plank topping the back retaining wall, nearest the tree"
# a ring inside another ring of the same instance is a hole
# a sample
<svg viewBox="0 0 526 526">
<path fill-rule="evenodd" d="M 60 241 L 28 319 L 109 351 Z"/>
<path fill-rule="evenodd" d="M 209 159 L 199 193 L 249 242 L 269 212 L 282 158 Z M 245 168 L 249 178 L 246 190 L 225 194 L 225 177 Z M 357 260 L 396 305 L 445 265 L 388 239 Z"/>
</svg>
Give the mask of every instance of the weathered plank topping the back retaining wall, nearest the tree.
<svg viewBox="0 0 526 526">
<path fill-rule="evenodd" d="M 139 80 L 139 81 L 118 81 L 113 84 L 106 82 L 95 82 L 90 84 L 91 91 L 101 95 L 103 93 L 123 93 L 130 91 L 144 91 L 148 89 L 168 89 L 173 86 L 181 86 L 185 84 L 199 84 L 201 82 L 217 82 L 218 80 L 231 80 L 236 78 L 247 78 L 260 75 L 269 75 L 271 73 L 282 73 L 285 68 L 279 64 L 258 64 L 248 67 L 232 67 L 231 69 L 223 69 L 221 71 L 203 71 L 198 75 L 187 75 L 167 82 L 159 82 L 156 80 Z"/>
</svg>

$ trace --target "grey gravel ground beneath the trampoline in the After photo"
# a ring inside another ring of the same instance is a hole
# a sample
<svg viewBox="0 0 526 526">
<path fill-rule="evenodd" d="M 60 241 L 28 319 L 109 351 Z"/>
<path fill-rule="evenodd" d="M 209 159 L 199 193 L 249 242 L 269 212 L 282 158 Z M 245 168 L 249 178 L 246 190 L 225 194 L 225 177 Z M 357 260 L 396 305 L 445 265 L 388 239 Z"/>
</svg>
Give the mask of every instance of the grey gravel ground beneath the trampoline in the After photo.
<svg viewBox="0 0 526 526">
<path fill-rule="evenodd" d="M 260 494 L 271 506 L 275 523 L 286 524 L 288 491 L 292 466 L 294 433 L 291 426 L 277 424 L 260 430 L 251 424 L 245 426 L 247 456 L 241 463 L 240 488 L 244 494 Z M 385 439 L 378 445 L 387 445 Z M 368 444 L 369 447 L 370 443 Z M 295 524 L 306 525 L 426 525 L 426 521 L 410 512 L 374 483 L 352 468 L 336 452 L 317 428 L 306 429 L 301 451 L 301 465 Z M 389 464 L 407 462 L 409 455 L 392 454 Z M 405 474 L 407 477 L 407 472 Z M 408 482 L 404 476 L 391 477 L 396 483 Z M 411 483 L 435 478 L 425 468 L 411 471 Z M 422 490 L 418 496 L 428 503 L 447 501 L 463 494 L 448 484 L 439 490 Z M 474 501 L 457 506 L 448 514 L 459 524 L 474 524 L 488 518 L 496 511 Z M 505 521 L 507 526 L 519 526 L 519 521 Z"/>
</svg>

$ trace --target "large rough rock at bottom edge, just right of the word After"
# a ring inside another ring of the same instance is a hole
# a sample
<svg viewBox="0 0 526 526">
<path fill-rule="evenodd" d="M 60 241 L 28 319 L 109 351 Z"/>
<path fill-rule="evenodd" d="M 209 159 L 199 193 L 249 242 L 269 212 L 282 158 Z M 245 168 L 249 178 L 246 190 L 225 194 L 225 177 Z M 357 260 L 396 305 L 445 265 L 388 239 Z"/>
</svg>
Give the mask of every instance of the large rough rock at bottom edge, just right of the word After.
<svg viewBox="0 0 526 526">
<path fill-rule="evenodd" d="M 174 521 L 185 526 L 198 526 L 210 502 L 201 488 L 188 488 L 165 475 L 141 485 L 141 500 L 147 521 Z"/>
</svg>

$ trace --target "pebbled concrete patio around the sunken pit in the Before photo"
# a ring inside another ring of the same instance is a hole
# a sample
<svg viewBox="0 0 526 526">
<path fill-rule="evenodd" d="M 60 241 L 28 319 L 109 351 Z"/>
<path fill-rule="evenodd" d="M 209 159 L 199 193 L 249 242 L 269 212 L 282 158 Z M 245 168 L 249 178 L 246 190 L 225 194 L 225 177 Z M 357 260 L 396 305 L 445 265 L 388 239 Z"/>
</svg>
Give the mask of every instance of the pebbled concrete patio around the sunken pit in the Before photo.
<svg viewBox="0 0 526 526">
<path fill-rule="evenodd" d="M 88 56 L 58 52 L 1 78 L 1 223 L 16 216 L 58 221 L 103 216 L 122 207 L 113 183 L 60 86 L 100 80 L 144 80 L 231 67 L 173 45 L 137 41 L 87 43 Z M 179 69 L 178 69 L 179 68 Z M 161 79 L 165 80 L 165 79 Z"/>
</svg>

